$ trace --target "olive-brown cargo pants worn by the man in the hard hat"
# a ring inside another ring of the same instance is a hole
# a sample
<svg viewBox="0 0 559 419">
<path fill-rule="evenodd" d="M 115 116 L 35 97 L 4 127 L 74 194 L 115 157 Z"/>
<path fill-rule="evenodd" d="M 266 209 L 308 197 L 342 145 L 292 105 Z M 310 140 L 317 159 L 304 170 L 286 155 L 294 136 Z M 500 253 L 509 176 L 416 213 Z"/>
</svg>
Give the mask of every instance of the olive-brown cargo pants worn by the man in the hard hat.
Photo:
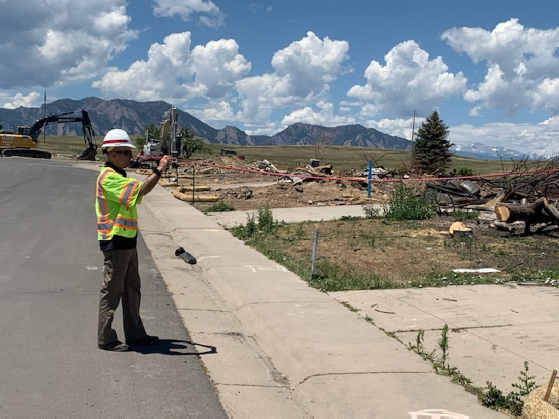
<svg viewBox="0 0 559 419">
<path fill-rule="evenodd" d="M 118 340 L 112 320 L 121 299 L 126 341 L 144 337 L 146 332 L 140 318 L 140 274 L 136 249 L 106 250 L 103 255 L 105 266 L 99 300 L 97 343 L 107 345 Z"/>
</svg>

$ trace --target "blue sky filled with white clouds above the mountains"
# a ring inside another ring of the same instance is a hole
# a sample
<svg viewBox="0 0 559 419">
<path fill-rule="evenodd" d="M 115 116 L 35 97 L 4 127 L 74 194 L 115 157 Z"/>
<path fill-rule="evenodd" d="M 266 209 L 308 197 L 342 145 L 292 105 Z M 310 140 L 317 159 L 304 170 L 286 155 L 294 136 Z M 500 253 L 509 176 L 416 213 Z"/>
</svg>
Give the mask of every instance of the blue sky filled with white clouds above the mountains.
<svg viewBox="0 0 559 419">
<path fill-rule="evenodd" d="M 0 0 L 0 107 L 161 99 L 249 134 L 408 139 L 413 111 L 436 109 L 456 144 L 559 152 L 557 1 L 46 3 Z"/>
</svg>

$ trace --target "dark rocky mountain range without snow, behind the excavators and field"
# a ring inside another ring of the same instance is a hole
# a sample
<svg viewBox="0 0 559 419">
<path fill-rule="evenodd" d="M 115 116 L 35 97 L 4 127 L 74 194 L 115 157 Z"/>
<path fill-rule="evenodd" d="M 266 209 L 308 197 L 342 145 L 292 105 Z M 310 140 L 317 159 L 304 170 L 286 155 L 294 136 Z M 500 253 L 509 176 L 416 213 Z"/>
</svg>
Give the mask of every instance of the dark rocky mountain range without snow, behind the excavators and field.
<svg viewBox="0 0 559 419">
<path fill-rule="evenodd" d="M 136 102 L 128 99 L 105 101 L 98 97 L 79 100 L 58 99 L 47 105 L 48 115 L 85 109 L 93 124 L 93 131 L 103 135 L 111 128 L 122 128 L 131 135 L 141 135 L 147 125 L 159 126 L 165 111 L 171 105 L 163 101 Z M 411 142 L 361 125 L 323 127 L 306 123 L 295 123 L 275 135 L 248 135 L 233 126 L 216 130 L 198 118 L 177 109 L 178 125 L 187 127 L 207 142 L 235 145 L 347 145 L 382 149 L 409 150 Z M 31 125 L 44 116 L 44 107 L 0 109 L 0 124 L 4 126 Z M 80 135 L 77 123 L 48 125 L 48 135 Z"/>
</svg>

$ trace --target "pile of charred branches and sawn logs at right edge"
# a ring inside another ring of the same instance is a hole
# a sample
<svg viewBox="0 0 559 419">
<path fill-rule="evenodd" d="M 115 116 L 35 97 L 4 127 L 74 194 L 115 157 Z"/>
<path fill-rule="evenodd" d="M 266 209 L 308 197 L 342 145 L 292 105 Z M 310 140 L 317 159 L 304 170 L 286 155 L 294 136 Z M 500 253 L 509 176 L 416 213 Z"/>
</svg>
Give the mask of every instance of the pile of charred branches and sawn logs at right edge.
<svg viewBox="0 0 559 419">
<path fill-rule="evenodd" d="M 452 179 L 428 183 L 427 194 L 443 208 L 494 212 L 492 227 L 515 231 L 524 224 L 537 231 L 559 225 L 559 158 L 533 162 L 520 160 L 513 170 L 500 177 Z"/>
</svg>

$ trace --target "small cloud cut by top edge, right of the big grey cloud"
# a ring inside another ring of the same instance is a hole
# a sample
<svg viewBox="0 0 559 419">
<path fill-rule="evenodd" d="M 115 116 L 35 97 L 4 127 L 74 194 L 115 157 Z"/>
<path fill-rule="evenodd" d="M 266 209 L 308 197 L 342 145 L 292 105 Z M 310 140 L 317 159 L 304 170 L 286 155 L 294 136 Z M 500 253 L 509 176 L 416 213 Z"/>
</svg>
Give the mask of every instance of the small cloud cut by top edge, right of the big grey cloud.
<svg viewBox="0 0 559 419">
<path fill-rule="evenodd" d="M 191 15 L 201 14 L 198 18 L 200 22 L 215 28 L 225 22 L 224 13 L 210 0 L 154 0 L 153 14 L 159 17 L 178 16 L 184 21 L 190 20 Z"/>
</svg>

